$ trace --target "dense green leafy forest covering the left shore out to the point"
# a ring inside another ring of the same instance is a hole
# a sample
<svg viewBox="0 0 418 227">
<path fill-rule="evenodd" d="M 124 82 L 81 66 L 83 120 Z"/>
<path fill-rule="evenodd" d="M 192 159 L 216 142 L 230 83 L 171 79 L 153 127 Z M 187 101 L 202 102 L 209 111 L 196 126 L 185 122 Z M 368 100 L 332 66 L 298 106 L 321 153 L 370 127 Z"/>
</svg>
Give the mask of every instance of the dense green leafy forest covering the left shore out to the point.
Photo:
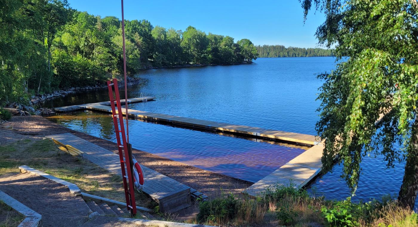
<svg viewBox="0 0 418 227">
<path fill-rule="evenodd" d="M 0 7 L 0 105 L 35 93 L 95 85 L 122 74 L 117 17 L 71 9 L 66 0 L 3 0 Z M 257 58 L 248 39 L 126 20 L 127 73 L 182 65 L 240 64 Z M 23 102 L 23 101 L 22 101 Z"/>
</svg>

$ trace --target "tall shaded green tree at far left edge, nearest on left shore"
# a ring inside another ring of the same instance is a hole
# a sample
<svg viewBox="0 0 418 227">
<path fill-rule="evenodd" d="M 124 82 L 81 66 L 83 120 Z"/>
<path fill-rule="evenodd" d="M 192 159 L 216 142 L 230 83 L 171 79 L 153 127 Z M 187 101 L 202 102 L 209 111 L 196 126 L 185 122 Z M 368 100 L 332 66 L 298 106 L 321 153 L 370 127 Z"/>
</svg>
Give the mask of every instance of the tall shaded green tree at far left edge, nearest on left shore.
<svg viewBox="0 0 418 227">
<path fill-rule="evenodd" d="M 36 78 L 47 77 L 42 6 L 46 1 L 3 0 L 0 7 L 0 102 L 23 101 Z"/>
</svg>

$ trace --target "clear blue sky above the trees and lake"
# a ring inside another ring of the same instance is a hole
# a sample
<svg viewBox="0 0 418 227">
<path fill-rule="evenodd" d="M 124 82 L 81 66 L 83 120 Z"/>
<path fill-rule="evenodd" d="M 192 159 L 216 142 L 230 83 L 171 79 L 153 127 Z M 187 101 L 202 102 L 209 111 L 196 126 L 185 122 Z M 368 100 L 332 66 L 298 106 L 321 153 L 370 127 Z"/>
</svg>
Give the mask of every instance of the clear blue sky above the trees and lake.
<svg viewBox="0 0 418 227">
<path fill-rule="evenodd" d="M 120 0 L 68 0 L 70 6 L 102 17 L 121 18 Z M 146 19 L 152 25 L 185 30 L 189 25 L 206 33 L 229 35 L 235 41 L 250 39 L 256 45 L 280 44 L 317 47 L 316 27 L 324 21 L 320 12 L 309 12 L 303 24 L 298 0 L 124 0 L 125 19 Z"/>
</svg>

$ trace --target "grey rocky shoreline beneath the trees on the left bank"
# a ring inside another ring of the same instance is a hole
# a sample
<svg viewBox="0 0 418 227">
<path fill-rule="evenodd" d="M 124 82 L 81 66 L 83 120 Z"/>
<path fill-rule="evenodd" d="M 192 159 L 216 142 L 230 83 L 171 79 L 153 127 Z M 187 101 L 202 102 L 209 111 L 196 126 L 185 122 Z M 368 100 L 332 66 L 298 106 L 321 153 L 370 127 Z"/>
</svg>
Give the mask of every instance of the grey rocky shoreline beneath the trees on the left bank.
<svg viewBox="0 0 418 227">
<path fill-rule="evenodd" d="M 133 78 L 127 77 L 126 82 L 127 86 L 137 85 L 141 82 L 141 78 Z M 125 81 L 122 79 L 118 79 L 118 87 L 122 87 L 125 85 Z M 34 95 L 29 100 L 29 105 L 24 105 L 17 102 L 9 102 L 5 105 L 4 109 L 8 110 L 14 116 L 31 116 L 31 115 L 51 115 L 55 114 L 52 109 L 49 108 L 37 108 L 37 104 L 44 102 L 48 99 L 52 99 L 54 97 L 61 97 L 71 93 L 80 92 L 83 90 L 92 90 L 92 89 L 103 89 L 107 88 L 107 85 L 95 85 L 95 86 L 85 86 L 85 87 L 64 87 L 63 90 L 56 90 L 49 94 L 38 94 Z"/>
</svg>

